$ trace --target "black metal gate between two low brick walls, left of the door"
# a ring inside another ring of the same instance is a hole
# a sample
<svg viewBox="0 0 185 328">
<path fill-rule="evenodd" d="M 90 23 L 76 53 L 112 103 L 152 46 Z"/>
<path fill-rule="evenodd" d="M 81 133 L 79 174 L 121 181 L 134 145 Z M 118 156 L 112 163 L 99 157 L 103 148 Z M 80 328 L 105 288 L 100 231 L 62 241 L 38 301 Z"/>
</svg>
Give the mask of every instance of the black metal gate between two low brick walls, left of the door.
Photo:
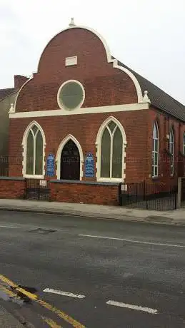
<svg viewBox="0 0 185 328">
<path fill-rule="evenodd" d="M 26 200 L 50 200 L 49 181 L 26 179 Z"/>
</svg>

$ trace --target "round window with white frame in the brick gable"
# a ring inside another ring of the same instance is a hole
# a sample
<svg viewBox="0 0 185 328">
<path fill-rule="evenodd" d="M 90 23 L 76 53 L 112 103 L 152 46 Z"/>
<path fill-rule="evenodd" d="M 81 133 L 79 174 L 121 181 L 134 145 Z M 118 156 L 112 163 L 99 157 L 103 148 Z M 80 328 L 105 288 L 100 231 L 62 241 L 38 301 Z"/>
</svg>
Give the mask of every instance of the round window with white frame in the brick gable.
<svg viewBox="0 0 185 328">
<path fill-rule="evenodd" d="M 80 107 L 84 102 L 84 88 L 77 81 L 69 81 L 59 88 L 59 106 L 69 111 Z"/>
</svg>

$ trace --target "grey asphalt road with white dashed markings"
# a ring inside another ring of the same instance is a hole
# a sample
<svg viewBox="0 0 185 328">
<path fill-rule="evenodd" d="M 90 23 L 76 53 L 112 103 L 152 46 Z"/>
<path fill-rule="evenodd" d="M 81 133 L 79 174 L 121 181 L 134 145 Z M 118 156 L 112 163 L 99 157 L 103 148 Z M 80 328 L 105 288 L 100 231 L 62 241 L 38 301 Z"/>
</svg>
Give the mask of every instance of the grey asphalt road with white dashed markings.
<svg viewBox="0 0 185 328">
<path fill-rule="evenodd" d="M 0 294 L 34 327 L 185 327 L 184 227 L 0 211 L 0 275 L 81 324 Z"/>
</svg>

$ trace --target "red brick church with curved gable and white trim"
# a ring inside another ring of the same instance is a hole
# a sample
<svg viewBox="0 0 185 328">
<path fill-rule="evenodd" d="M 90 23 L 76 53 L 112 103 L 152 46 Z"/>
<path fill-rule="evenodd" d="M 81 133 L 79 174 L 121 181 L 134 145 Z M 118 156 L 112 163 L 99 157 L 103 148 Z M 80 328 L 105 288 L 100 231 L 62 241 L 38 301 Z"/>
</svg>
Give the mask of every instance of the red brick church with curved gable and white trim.
<svg viewBox="0 0 185 328">
<path fill-rule="evenodd" d="M 9 117 L 9 175 L 55 181 L 58 200 L 74 197 L 74 183 L 89 188 L 86 198 L 99 185 L 101 198 L 106 185 L 184 175 L 185 107 L 73 19 L 44 48 Z"/>
</svg>

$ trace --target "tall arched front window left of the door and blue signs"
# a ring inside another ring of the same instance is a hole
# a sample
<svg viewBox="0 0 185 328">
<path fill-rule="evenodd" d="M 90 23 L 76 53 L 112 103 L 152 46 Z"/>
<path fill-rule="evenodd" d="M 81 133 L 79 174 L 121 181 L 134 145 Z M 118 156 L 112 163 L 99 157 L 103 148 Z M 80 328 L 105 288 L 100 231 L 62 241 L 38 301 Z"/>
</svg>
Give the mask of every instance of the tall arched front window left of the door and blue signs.
<svg viewBox="0 0 185 328">
<path fill-rule="evenodd" d="M 44 175 L 44 141 L 39 126 L 31 125 L 24 139 L 25 175 Z"/>
</svg>

